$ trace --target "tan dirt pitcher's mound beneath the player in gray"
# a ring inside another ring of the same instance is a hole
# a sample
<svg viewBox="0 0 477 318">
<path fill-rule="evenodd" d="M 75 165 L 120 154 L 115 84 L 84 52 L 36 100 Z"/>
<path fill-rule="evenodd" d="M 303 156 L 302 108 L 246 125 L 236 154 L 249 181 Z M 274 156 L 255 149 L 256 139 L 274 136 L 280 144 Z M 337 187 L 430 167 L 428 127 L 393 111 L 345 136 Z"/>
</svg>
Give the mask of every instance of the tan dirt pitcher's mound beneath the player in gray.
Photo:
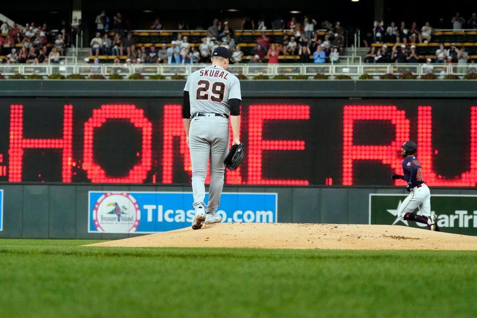
<svg viewBox="0 0 477 318">
<path fill-rule="evenodd" d="M 87 246 L 477 250 L 477 237 L 390 225 L 220 223 Z"/>
</svg>

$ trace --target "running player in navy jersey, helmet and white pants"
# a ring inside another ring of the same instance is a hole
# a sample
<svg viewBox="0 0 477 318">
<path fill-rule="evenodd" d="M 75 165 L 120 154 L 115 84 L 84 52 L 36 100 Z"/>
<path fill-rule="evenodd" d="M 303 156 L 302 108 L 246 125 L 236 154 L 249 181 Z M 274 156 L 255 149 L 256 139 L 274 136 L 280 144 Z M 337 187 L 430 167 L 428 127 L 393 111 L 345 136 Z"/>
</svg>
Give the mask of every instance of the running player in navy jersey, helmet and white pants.
<svg viewBox="0 0 477 318">
<path fill-rule="evenodd" d="M 412 141 L 406 141 L 401 148 L 401 156 L 404 157 L 401 163 L 404 175 L 394 174 L 393 180 L 402 179 L 406 181 L 406 190 L 410 193 L 402 202 L 399 211 L 397 211 L 397 216 L 403 220 L 423 223 L 431 231 L 439 231 L 436 224 L 436 215 L 431 215 L 431 193 L 422 179 L 421 164 L 414 156 L 417 145 Z M 422 215 L 413 213 L 416 208 Z"/>
</svg>

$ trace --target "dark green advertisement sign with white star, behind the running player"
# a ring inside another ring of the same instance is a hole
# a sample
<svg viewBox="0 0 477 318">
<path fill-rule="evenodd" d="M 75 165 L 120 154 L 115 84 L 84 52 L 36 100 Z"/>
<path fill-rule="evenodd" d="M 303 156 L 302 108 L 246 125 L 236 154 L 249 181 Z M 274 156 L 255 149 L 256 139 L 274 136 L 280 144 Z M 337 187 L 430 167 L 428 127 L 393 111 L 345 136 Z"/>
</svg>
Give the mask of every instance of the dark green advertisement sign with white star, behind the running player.
<svg viewBox="0 0 477 318">
<path fill-rule="evenodd" d="M 370 194 L 369 224 L 427 228 L 425 224 L 397 217 L 405 198 L 402 194 Z M 437 215 L 437 225 L 442 232 L 477 235 L 477 195 L 431 194 L 431 211 Z M 419 214 L 419 210 L 414 213 Z"/>
</svg>

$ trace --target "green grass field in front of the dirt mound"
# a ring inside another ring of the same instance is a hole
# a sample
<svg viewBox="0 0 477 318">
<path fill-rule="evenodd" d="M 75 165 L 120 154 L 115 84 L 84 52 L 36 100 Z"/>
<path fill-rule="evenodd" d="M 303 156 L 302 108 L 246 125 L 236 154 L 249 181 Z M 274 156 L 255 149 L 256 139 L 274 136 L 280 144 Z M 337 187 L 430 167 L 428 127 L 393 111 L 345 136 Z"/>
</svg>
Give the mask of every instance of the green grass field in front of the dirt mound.
<svg viewBox="0 0 477 318">
<path fill-rule="evenodd" d="M 0 317 L 475 317 L 477 253 L 0 239 Z"/>
</svg>

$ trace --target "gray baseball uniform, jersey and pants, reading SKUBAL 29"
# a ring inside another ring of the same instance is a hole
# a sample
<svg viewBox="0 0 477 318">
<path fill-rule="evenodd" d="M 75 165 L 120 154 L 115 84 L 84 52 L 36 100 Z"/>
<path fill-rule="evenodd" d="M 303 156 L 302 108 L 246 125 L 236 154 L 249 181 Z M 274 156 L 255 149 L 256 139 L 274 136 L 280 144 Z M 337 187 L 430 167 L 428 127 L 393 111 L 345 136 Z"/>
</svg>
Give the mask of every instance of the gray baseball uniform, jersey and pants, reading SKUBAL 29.
<svg viewBox="0 0 477 318">
<path fill-rule="evenodd" d="M 197 70 L 187 78 L 189 92 L 189 150 L 194 208 L 204 205 L 205 178 L 210 156 L 207 213 L 217 210 L 224 187 L 224 159 L 229 151 L 229 100 L 241 100 L 239 79 L 219 66 Z M 200 115 L 199 115 L 200 114 Z"/>
</svg>

